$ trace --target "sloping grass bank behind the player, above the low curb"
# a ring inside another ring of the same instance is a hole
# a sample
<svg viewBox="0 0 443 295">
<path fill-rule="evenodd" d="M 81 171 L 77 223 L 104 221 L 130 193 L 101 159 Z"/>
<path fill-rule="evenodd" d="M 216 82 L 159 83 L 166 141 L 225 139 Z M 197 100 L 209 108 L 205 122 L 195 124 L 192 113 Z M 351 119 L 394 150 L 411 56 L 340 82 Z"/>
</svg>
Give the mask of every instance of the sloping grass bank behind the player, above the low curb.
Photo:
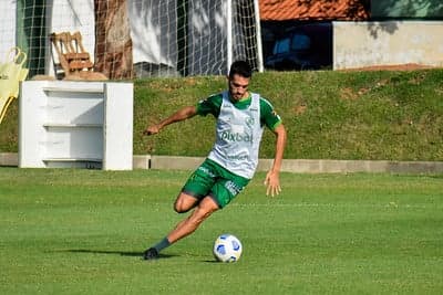
<svg viewBox="0 0 443 295">
<path fill-rule="evenodd" d="M 286 158 L 442 161 L 442 69 L 265 72 L 255 74 L 250 89 L 269 98 L 282 117 Z M 169 126 L 155 137 L 142 131 L 178 107 L 223 91 L 225 77 L 138 80 L 134 85 L 135 155 L 207 155 L 214 140 L 210 116 Z M 0 125 L 0 151 L 17 151 L 17 138 L 14 102 Z M 268 131 L 260 157 L 274 157 Z"/>
</svg>

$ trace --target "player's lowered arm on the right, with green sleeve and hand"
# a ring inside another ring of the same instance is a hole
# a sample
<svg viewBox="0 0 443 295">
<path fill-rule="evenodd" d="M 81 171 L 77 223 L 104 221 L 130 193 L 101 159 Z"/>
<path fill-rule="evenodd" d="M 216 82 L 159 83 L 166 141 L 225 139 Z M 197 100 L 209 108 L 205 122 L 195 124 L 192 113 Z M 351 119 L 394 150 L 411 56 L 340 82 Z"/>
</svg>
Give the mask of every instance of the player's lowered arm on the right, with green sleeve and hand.
<svg viewBox="0 0 443 295">
<path fill-rule="evenodd" d="M 277 113 L 274 110 L 272 105 L 266 99 L 261 101 L 260 114 L 264 124 L 267 125 L 268 128 L 271 129 L 272 133 L 276 135 L 274 164 L 265 178 L 265 185 L 267 187 L 266 194 L 274 197 L 276 194 L 279 194 L 281 191 L 280 169 L 284 159 L 287 134 L 280 116 L 277 115 Z"/>
</svg>

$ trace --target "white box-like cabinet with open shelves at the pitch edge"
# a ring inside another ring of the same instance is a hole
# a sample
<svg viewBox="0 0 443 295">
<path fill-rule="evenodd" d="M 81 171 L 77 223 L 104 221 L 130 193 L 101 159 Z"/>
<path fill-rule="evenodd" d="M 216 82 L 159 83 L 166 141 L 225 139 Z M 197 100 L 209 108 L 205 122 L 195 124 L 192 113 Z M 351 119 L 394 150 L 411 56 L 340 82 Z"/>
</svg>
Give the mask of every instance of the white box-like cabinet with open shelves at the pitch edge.
<svg viewBox="0 0 443 295">
<path fill-rule="evenodd" d="M 27 81 L 19 115 L 19 167 L 132 169 L 132 83 Z"/>
</svg>

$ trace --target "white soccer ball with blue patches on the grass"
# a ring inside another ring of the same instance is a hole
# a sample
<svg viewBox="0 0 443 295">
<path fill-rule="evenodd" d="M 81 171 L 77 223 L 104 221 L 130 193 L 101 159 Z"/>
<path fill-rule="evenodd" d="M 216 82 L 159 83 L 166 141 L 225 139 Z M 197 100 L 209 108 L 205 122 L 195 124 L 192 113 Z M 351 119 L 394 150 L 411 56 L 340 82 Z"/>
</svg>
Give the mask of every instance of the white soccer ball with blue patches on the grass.
<svg viewBox="0 0 443 295">
<path fill-rule="evenodd" d="M 241 256 L 240 240 L 233 234 L 222 234 L 215 240 L 214 256 L 220 262 L 237 262 Z"/>
</svg>

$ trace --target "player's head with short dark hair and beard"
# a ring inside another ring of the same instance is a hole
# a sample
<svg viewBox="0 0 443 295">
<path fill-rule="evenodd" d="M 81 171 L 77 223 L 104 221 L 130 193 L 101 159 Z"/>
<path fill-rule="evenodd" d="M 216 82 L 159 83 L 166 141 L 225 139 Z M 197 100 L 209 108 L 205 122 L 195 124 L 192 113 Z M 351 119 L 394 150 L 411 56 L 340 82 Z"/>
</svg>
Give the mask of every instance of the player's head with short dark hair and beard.
<svg viewBox="0 0 443 295">
<path fill-rule="evenodd" d="M 228 86 L 230 97 L 240 101 L 249 96 L 248 86 L 253 70 L 245 61 L 236 61 L 230 65 L 228 75 Z"/>
</svg>

